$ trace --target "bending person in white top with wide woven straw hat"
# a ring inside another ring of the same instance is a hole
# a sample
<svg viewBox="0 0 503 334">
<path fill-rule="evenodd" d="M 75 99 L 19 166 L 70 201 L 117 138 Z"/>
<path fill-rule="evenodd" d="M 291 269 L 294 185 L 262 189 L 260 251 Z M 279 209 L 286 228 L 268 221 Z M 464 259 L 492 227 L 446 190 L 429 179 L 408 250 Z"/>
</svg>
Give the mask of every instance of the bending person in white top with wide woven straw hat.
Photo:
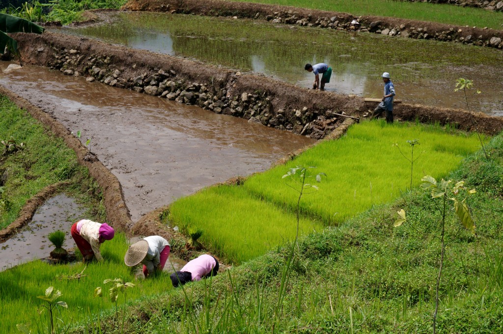
<svg viewBox="0 0 503 334">
<path fill-rule="evenodd" d="M 124 263 L 128 267 L 142 263 L 143 275 L 148 277 L 156 270 L 162 271 L 169 256 L 170 243 L 162 236 L 152 235 L 130 245 Z"/>
</svg>

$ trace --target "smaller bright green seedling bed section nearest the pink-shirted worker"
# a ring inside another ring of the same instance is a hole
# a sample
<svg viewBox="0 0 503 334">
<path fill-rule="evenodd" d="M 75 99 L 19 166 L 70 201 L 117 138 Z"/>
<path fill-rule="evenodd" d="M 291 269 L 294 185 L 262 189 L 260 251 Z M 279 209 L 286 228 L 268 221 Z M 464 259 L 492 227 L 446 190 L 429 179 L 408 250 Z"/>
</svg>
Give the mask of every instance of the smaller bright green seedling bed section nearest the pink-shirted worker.
<svg viewBox="0 0 503 334">
<path fill-rule="evenodd" d="M 205 189 L 176 201 L 170 212 L 173 226 L 184 231 L 202 229 L 203 244 L 235 263 L 256 258 L 295 237 L 293 213 L 251 196 L 242 187 Z M 319 222 L 301 220 L 301 234 L 321 228 Z"/>
</svg>

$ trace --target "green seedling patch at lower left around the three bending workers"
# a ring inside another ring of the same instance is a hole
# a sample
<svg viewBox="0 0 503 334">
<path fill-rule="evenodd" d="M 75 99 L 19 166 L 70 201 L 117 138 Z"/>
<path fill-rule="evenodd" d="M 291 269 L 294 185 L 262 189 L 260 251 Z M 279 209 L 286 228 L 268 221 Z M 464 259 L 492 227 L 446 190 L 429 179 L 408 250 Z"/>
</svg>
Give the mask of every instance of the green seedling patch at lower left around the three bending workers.
<svg viewBox="0 0 503 334">
<path fill-rule="evenodd" d="M 170 290 L 172 284 L 167 275 L 158 275 L 148 280 L 135 280 L 133 270 L 124 265 L 124 254 L 128 246 L 129 242 L 125 235 L 117 233 L 100 248 L 104 262 L 91 263 L 86 267 L 82 263 L 53 266 L 34 261 L 1 272 L 2 329 L 0 331 L 17 332 L 18 323 L 28 324 L 33 332 L 38 332 L 37 328 L 44 328 L 47 324 L 47 311 L 42 308 L 43 301 L 37 296 L 44 295 L 45 289 L 49 286 L 62 292 L 58 301 L 65 301 L 68 304 L 68 309 L 60 308 L 60 313 L 55 311 L 55 317 L 60 318 L 65 324 L 81 321 L 89 323 L 98 314 L 115 312 L 115 306 L 108 298 L 108 289 L 111 286 L 103 284 L 106 279 L 121 278 L 126 282 L 133 282 L 135 287 L 127 290 L 129 301 L 143 295 L 156 295 Z M 80 280 L 68 279 L 68 276 L 79 274 L 82 270 L 85 276 Z M 93 295 L 99 286 L 104 289 L 103 298 Z M 124 304 L 123 294 L 119 295 L 118 303 L 119 306 Z M 38 309 L 42 311 L 41 315 Z M 47 331 L 44 329 L 42 332 Z"/>
</svg>

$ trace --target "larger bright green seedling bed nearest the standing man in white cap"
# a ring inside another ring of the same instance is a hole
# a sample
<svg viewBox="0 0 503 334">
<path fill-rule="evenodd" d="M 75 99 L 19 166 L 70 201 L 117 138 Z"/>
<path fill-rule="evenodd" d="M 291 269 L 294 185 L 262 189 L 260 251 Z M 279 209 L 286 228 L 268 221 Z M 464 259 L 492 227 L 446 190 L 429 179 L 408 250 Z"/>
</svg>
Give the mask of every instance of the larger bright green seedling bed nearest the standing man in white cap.
<svg viewBox="0 0 503 334">
<path fill-rule="evenodd" d="M 306 198 L 300 205 L 301 212 L 327 225 L 337 224 L 372 205 L 397 198 L 409 184 L 410 168 L 397 163 L 402 156 L 392 143 L 411 136 L 422 138 L 425 151 L 414 163 L 413 180 L 420 180 L 425 174 L 443 176 L 477 149 L 476 135 L 446 134 L 435 126 L 409 123 L 386 126 L 382 121 L 352 126 L 341 139 L 322 142 L 286 164 L 286 168 L 316 165 L 320 170 L 336 174 L 325 181 L 325 187 L 331 191 Z M 297 198 L 287 186 L 276 181 L 283 175 L 283 169 L 278 166 L 255 175 L 247 179 L 243 187 L 250 194 L 293 209 Z"/>
</svg>

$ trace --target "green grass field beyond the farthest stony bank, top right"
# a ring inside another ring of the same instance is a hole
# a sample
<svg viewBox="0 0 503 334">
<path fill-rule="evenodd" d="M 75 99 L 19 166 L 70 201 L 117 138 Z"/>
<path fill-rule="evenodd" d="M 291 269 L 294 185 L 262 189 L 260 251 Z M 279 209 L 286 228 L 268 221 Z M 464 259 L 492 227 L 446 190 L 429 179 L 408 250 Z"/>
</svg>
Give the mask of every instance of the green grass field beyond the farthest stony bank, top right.
<svg viewBox="0 0 503 334">
<path fill-rule="evenodd" d="M 231 0 L 236 2 L 248 2 Z M 393 0 L 254 0 L 253 3 L 292 6 L 323 11 L 350 13 L 355 16 L 375 15 L 393 18 L 501 29 L 501 13 L 479 8 Z"/>
</svg>

